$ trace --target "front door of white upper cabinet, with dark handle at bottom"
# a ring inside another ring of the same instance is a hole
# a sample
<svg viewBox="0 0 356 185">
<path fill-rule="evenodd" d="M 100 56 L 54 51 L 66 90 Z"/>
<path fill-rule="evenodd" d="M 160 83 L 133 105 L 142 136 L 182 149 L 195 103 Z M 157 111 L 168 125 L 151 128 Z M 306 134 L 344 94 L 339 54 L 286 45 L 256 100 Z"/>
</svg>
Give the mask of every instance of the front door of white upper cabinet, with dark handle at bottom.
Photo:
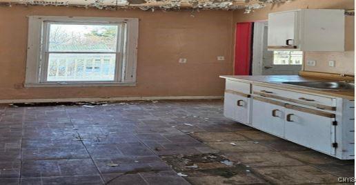
<svg viewBox="0 0 356 185">
<path fill-rule="evenodd" d="M 268 14 L 268 46 L 297 46 L 297 12 Z"/>
</svg>

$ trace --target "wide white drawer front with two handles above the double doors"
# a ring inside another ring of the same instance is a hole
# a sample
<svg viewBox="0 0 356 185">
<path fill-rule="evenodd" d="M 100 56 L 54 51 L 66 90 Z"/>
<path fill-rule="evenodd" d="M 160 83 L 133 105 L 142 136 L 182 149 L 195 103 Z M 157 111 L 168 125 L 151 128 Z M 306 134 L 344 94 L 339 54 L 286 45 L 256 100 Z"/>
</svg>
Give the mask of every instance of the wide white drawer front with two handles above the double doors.
<svg viewBox="0 0 356 185">
<path fill-rule="evenodd" d="M 253 93 L 263 97 L 291 101 L 297 104 L 304 104 L 306 106 L 313 106 L 320 109 L 336 110 L 336 99 L 331 97 L 308 95 L 304 93 L 268 88 L 264 86 L 253 86 Z"/>
</svg>

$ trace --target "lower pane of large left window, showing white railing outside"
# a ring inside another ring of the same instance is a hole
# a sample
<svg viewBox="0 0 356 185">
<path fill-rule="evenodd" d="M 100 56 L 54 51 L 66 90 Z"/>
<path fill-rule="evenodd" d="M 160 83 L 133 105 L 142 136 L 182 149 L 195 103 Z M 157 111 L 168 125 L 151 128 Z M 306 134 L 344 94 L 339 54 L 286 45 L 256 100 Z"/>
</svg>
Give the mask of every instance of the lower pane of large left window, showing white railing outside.
<svg viewBox="0 0 356 185">
<path fill-rule="evenodd" d="M 115 54 L 50 53 L 47 81 L 112 81 Z"/>
</svg>

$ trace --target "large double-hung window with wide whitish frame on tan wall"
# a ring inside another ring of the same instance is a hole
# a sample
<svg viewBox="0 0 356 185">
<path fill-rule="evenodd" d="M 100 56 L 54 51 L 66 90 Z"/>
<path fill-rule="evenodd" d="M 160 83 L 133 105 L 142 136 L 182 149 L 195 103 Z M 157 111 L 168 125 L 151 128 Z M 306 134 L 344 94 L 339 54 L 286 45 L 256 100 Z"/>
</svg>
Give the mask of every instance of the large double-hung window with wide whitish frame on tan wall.
<svg viewBox="0 0 356 185">
<path fill-rule="evenodd" d="M 135 84 L 138 19 L 29 17 L 25 86 Z"/>
</svg>

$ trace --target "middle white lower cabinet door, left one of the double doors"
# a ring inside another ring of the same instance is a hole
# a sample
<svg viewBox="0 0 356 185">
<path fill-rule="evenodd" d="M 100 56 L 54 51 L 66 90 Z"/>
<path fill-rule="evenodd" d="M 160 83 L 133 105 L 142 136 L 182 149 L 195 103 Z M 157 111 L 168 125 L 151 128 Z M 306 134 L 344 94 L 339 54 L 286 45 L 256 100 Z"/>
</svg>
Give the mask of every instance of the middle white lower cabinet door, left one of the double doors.
<svg viewBox="0 0 356 185">
<path fill-rule="evenodd" d="M 284 137 L 285 108 L 253 99 L 252 124 L 266 133 Z"/>
</svg>

